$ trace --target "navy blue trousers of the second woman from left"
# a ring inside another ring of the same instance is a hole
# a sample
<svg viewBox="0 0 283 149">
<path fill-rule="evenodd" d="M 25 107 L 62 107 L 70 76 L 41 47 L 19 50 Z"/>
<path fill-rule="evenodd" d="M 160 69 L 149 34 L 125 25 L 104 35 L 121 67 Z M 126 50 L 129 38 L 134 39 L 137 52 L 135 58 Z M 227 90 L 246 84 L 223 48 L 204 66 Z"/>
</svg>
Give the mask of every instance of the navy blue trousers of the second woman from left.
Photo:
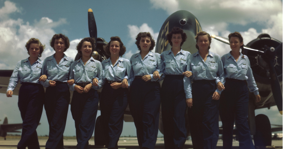
<svg viewBox="0 0 283 149">
<path fill-rule="evenodd" d="M 70 91 L 67 83 L 56 81 L 55 86 L 49 86 L 45 91 L 44 108 L 49 123 L 49 138 L 46 148 L 64 148 L 63 133 L 66 126 Z"/>
</svg>

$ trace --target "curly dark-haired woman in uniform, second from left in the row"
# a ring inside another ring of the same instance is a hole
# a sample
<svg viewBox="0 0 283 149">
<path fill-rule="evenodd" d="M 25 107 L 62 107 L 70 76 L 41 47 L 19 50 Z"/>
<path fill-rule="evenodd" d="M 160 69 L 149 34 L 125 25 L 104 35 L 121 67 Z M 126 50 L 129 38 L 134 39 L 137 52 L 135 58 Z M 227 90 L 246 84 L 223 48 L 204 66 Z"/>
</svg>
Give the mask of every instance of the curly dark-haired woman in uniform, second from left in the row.
<svg viewBox="0 0 283 149">
<path fill-rule="evenodd" d="M 55 54 L 44 59 L 42 72 L 48 77 L 44 82 L 46 87 L 44 108 L 49 123 L 49 138 L 46 148 L 63 148 L 63 133 L 66 126 L 70 91 L 68 83 L 70 66 L 74 62 L 64 54 L 69 48 L 70 42 L 67 36 L 55 34 L 50 40 L 50 46 Z"/>
</svg>

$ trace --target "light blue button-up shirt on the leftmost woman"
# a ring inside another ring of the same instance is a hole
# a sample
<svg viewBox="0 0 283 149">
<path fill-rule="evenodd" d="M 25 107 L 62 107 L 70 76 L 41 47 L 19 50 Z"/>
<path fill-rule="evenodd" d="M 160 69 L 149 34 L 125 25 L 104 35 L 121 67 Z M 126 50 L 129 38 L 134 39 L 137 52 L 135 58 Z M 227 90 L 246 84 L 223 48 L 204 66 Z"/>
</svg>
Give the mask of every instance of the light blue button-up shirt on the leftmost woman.
<svg viewBox="0 0 283 149">
<path fill-rule="evenodd" d="M 42 60 L 38 58 L 32 65 L 29 62 L 29 58 L 21 60 L 17 63 L 8 84 L 7 91 L 13 91 L 18 82 L 38 83 L 43 84 L 42 81 L 38 82 L 41 76 Z"/>
</svg>

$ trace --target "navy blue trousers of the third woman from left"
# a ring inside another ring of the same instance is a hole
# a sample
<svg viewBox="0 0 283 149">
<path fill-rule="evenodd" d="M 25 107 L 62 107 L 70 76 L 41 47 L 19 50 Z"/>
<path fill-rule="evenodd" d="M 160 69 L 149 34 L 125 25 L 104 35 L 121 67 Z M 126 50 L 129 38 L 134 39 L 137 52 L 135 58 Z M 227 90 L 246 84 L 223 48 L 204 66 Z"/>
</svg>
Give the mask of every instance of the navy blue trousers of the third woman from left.
<svg viewBox="0 0 283 149">
<path fill-rule="evenodd" d="M 88 149 L 98 108 L 98 93 L 90 89 L 88 93 L 74 91 L 71 103 L 71 112 L 75 120 L 76 138 L 78 149 Z"/>
</svg>

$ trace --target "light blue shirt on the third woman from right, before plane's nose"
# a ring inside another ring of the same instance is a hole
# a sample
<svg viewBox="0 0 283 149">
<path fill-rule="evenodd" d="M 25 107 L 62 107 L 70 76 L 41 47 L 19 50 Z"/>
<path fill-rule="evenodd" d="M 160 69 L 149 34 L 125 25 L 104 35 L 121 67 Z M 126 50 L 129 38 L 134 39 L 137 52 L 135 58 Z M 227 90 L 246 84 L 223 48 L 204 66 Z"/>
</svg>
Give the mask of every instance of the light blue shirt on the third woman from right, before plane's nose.
<svg viewBox="0 0 283 149">
<path fill-rule="evenodd" d="M 164 79 L 166 75 L 183 75 L 183 72 L 186 71 L 188 56 L 190 54 L 190 52 L 181 49 L 180 52 L 178 52 L 176 56 L 174 56 L 172 48 L 168 51 L 162 52 L 161 58 L 165 66 L 165 70 L 160 80 Z M 189 81 L 190 80 L 186 76 L 184 76 L 184 90 L 186 97 L 189 96 L 189 92 L 186 90 L 189 85 Z"/>
</svg>

